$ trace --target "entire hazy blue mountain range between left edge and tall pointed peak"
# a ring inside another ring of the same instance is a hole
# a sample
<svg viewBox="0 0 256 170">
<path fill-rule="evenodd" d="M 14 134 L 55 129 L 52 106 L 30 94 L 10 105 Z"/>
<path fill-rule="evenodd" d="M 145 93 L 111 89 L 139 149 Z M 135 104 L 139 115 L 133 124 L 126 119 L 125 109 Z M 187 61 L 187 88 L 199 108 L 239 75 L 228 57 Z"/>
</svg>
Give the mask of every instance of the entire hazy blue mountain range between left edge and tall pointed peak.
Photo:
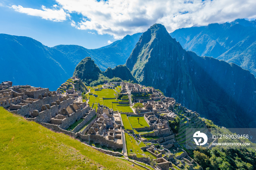
<svg viewBox="0 0 256 170">
<path fill-rule="evenodd" d="M 30 84 L 56 90 L 74 73 L 76 65 L 85 57 L 97 61 L 101 70 L 124 64 L 142 33 L 127 35 L 123 39 L 100 49 L 86 49 L 77 45 L 47 47 L 26 36 L 0 34 L 0 81 L 14 85 Z"/>
</svg>

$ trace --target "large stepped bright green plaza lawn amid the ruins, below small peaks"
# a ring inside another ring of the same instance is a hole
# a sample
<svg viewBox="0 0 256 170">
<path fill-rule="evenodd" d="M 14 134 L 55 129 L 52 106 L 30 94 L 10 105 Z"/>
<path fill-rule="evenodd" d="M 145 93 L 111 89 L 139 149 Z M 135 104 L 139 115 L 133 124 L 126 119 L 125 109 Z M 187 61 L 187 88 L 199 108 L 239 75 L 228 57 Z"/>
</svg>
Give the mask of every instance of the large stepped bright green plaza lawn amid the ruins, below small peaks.
<svg viewBox="0 0 256 170">
<path fill-rule="evenodd" d="M 89 104 L 92 106 L 94 103 L 93 108 L 95 107 L 97 109 L 98 103 L 103 104 L 109 108 L 112 108 L 113 111 L 119 111 L 119 112 L 133 112 L 131 107 L 128 104 L 118 104 L 118 101 L 116 100 L 116 92 L 113 89 L 102 89 L 99 91 L 95 91 L 95 88 L 99 88 L 101 85 L 98 85 L 97 87 L 90 87 L 87 86 L 88 89 L 90 89 L 90 92 L 86 94 L 87 99 L 89 99 Z M 120 92 L 121 86 L 118 86 L 115 88 L 118 92 Z M 93 96 L 93 94 L 96 94 L 97 97 Z M 108 98 L 108 99 L 103 99 Z M 83 100 L 85 101 L 85 100 Z"/>
</svg>

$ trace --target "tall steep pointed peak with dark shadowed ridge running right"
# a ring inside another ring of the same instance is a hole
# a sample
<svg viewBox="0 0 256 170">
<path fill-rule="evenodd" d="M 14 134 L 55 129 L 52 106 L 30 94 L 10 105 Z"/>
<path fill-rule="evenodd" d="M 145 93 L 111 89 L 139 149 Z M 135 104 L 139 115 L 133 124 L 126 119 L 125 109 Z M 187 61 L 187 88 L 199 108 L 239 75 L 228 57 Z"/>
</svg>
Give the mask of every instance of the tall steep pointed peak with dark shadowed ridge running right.
<svg viewBox="0 0 256 170">
<path fill-rule="evenodd" d="M 161 24 L 143 33 L 125 65 L 140 84 L 158 88 L 218 125 L 255 125 L 253 74 L 236 64 L 185 51 Z"/>
</svg>

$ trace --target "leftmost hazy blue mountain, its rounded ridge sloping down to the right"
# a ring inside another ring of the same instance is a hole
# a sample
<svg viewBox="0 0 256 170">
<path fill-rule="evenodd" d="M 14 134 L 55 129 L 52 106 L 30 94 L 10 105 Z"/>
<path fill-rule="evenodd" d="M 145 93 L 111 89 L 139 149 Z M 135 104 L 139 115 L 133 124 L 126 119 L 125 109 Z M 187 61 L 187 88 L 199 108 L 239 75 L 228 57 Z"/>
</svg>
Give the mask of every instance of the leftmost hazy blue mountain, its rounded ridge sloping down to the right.
<svg viewBox="0 0 256 170">
<path fill-rule="evenodd" d="M 54 90 L 69 76 L 50 48 L 32 38 L 0 34 L 0 51 L 0 81 Z"/>
</svg>

